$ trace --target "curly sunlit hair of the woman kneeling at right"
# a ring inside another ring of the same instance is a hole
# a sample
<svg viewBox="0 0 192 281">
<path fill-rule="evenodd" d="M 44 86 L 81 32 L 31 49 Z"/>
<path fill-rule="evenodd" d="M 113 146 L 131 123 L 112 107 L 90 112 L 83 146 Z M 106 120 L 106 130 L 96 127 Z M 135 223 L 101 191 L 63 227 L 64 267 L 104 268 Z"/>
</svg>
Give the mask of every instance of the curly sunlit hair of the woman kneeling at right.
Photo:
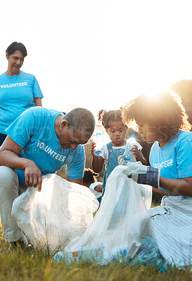
<svg viewBox="0 0 192 281">
<path fill-rule="evenodd" d="M 181 98 L 174 92 L 163 92 L 154 96 L 139 95 L 121 110 L 123 122 L 128 126 L 132 122 L 146 123 L 156 126 L 168 138 L 173 136 L 173 131 L 175 134 L 180 130 L 191 129 Z"/>
</svg>

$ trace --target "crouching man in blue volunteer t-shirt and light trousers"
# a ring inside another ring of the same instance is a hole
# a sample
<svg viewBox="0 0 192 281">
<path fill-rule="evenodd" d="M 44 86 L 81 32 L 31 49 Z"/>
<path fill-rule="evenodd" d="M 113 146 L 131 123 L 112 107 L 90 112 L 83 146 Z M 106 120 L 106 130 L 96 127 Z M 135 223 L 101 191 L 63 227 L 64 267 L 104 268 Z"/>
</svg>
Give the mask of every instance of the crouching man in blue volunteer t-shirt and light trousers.
<svg viewBox="0 0 192 281">
<path fill-rule="evenodd" d="M 44 107 L 31 107 L 6 129 L 0 147 L 0 214 L 5 240 L 22 244 L 22 233 L 13 221 L 13 200 L 27 188 L 41 191 L 42 175 L 67 165 L 67 181 L 83 183 L 85 151 L 95 129 L 89 110 L 75 108 L 66 115 Z M 82 145 L 81 145 L 82 144 Z"/>
</svg>

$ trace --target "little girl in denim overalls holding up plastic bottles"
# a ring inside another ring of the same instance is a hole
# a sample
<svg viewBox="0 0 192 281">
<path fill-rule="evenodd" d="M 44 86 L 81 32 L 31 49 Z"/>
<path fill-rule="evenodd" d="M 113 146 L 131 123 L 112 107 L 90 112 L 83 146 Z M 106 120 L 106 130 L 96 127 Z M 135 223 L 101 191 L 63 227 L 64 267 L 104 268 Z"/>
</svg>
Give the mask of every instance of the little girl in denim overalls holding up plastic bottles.
<svg viewBox="0 0 192 281">
<path fill-rule="evenodd" d="M 111 171 L 118 166 L 118 157 L 123 155 L 125 152 L 125 135 L 128 127 L 123 124 L 121 118 L 121 110 L 109 110 L 108 112 L 100 110 L 99 121 L 102 122 L 105 131 L 108 133 L 111 139 L 110 143 L 104 145 L 102 148 L 102 153 L 99 156 L 95 155 L 94 149 L 96 143 L 92 143 L 92 169 L 99 173 L 102 170 L 103 164 L 106 166 L 106 171 L 104 173 L 102 196 L 104 195 L 105 185 L 107 178 L 111 174 Z M 137 143 L 137 142 L 136 142 Z M 141 152 L 142 146 L 137 143 L 133 145 L 131 151 L 135 156 L 137 161 L 146 164 L 146 159 Z"/>
</svg>

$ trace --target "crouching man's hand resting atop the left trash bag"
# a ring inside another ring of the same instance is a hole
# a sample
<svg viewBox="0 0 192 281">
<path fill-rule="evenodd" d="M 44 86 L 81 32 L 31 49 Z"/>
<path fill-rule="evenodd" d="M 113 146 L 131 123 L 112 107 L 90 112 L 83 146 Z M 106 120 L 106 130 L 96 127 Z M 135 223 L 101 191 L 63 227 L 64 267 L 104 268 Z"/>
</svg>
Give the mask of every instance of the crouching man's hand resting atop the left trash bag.
<svg viewBox="0 0 192 281">
<path fill-rule="evenodd" d="M 36 164 L 34 164 L 34 162 L 32 161 L 28 162 L 25 168 L 25 184 L 27 188 L 29 188 L 30 186 L 36 188 L 36 186 L 38 186 L 38 191 L 41 191 L 41 171 L 39 170 L 38 166 L 36 166 Z"/>
</svg>

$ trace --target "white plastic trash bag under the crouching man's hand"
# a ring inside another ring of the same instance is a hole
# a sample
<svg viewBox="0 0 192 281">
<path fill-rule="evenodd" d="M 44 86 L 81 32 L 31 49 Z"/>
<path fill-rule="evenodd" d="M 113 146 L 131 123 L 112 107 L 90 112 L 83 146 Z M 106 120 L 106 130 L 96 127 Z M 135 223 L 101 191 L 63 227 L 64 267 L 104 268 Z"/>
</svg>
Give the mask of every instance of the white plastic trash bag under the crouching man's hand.
<svg viewBox="0 0 192 281">
<path fill-rule="evenodd" d="M 53 253 L 83 235 L 98 207 L 89 188 L 47 174 L 41 192 L 28 188 L 14 200 L 12 216 L 35 248 Z"/>
</svg>

